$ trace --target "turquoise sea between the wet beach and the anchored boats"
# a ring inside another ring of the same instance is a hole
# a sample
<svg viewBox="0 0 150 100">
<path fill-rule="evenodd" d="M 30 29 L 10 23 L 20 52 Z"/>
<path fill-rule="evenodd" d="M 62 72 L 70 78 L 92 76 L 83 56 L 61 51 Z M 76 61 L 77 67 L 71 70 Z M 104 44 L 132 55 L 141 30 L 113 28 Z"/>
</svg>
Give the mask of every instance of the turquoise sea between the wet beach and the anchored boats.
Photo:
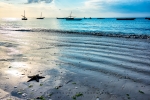
<svg viewBox="0 0 150 100">
<path fill-rule="evenodd" d="M 28 18 L 28 20 L 2 18 L 0 19 L 0 30 L 150 35 L 150 20 L 144 18 L 136 18 L 135 20 L 93 18 L 82 19 L 81 21 L 66 21 L 65 19 L 56 18 L 45 18 L 43 20 L 35 18 Z"/>
</svg>

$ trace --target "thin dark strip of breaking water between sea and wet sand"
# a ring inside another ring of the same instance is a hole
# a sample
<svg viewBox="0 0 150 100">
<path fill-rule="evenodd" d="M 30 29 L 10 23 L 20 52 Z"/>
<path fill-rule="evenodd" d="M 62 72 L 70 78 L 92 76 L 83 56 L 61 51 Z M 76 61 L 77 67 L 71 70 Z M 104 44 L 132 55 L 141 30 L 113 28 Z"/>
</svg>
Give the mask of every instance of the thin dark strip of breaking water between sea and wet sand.
<svg viewBox="0 0 150 100">
<path fill-rule="evenodd" d="M 148 34 L 135 34 L 135 33 L 123 33 L 123 32 L 96 32 L 96 31 L 76 31 L 76 30 L 57 30 L 57 29 L 17 29 L 13 31 L 19 32 L 44 32 L 44 33 L 63 33 L 63 34 L 78 34 L 78 35 L 93 35 L 93 36 L 105 36 L 105 37 L 118 37 L 118 38 L 132 38 L 132 39 L 150 39 Z"/>
</svg>

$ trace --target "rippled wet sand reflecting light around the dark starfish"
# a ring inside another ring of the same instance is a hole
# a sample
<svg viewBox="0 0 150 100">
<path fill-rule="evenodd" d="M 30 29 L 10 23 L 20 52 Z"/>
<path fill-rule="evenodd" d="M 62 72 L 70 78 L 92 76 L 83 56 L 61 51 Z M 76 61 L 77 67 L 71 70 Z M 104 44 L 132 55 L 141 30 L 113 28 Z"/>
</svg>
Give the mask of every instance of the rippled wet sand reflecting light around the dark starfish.
<svg viewBox="0 0 150 100">
<path fill-rule="evenodd" d="M 150 98 L 148 39 L 1 31 L 0 56 L 1 100 Z"/>
</svg>

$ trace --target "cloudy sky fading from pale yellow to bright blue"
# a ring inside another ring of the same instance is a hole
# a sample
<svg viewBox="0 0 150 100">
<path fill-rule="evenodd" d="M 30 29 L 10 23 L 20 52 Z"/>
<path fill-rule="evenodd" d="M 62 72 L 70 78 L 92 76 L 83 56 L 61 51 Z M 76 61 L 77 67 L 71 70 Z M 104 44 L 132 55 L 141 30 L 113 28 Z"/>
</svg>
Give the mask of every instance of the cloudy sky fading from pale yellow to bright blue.
<svg viewBox="0 0 150 100">
<path fill-rule="evenodd" d="M 150 17 L 150 0 L 0 0 L 0 18 Z"/>
</svg>

